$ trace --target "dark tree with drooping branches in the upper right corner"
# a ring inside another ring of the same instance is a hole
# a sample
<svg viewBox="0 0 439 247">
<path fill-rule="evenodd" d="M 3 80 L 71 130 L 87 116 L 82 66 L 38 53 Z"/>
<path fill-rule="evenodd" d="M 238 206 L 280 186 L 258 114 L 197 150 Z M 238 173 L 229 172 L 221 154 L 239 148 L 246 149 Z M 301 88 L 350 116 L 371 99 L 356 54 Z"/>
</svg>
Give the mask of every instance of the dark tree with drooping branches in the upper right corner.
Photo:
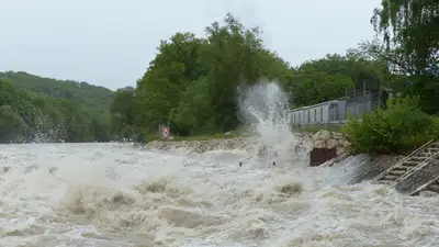
<svg viewBox="0 0 439 247">
<path fill-rule="evenodd" d="M 403 93 L 419 97 L 429 113 L 439 110 L 438 10 L 436 0 L 383 0 L 371 20 L 383 37 L 387 66 L 402 77 Z"/>
</svg>

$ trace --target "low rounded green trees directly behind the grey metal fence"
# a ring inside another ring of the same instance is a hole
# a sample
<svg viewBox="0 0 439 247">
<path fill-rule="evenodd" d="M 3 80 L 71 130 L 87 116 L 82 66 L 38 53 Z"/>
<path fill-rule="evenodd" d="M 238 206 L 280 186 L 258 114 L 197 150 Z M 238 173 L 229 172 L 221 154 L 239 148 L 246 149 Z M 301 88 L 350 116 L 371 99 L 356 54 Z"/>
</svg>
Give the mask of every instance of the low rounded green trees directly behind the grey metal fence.
<svg viewBox="0 0 439 247">
<path fill-rule="evenodd" d="M 350 49 L 347 55 L 326 57 L 303 63 L 294 68 L 286 85 L 295 106 L 320 103 L 349 96 L 354 91 L 380 90 L 386 71 L 375 59 L 368 59 L 361 49 Z"/>
</svg>

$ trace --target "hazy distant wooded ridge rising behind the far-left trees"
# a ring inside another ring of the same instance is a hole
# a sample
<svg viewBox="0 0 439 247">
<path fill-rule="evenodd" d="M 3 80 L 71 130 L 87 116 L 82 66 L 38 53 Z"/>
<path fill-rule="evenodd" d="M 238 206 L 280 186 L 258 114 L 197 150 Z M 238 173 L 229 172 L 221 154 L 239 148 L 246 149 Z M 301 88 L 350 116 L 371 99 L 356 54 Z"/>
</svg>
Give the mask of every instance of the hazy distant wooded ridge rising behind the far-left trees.
<svg viewBox="0 0 439 247">
<path fill-rule="evenodd" d="M 0 72 L 0 80 L 33 93 L 71 100 L 88 111 L 108 112 L 114 97 L 114 92 L 104 87 L 44 78 L 23 71 Z"/>
</svg>

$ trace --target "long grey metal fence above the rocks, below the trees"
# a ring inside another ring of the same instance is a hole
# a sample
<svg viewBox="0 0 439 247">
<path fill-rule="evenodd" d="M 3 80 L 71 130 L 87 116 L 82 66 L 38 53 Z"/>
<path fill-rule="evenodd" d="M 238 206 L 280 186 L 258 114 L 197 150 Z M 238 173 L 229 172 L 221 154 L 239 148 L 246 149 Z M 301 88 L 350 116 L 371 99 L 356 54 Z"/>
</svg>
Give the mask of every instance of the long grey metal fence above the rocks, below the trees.
<svg viewBox="0 0 439 247">
<path fill-rule="evenodd" d="M 361 117 L 381 105 L 381 93 L 363 92 L 352 97 L 307 105 L 290 111 L 290 122 L 293 126 L 313 124 L 345 124 L 349 115 Z"/>
</svg>

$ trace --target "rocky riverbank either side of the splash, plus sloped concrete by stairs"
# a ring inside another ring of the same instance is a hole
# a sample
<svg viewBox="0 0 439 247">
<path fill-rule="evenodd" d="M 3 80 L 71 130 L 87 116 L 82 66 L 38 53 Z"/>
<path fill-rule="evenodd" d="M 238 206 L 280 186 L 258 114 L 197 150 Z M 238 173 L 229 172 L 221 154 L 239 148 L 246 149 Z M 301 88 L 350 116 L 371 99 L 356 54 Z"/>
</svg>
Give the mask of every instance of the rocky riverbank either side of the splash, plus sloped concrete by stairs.
<svg viewBox="0 0 439 247">
<path fill-rule="evenodd" d="M 349 161 L 350 143 L 347 141 L 342 133 L 319 131 L 314 134 L 309 133 L 293 133 L 295 146 L 290 147 L 291 154 L 302 153 L 307 156 L 311 161 L 311 156 L 315 149 L 333 149 L 335 150 L 335 158 L 330 158 L 319 166 L 333 166 L 342 160 Z M 210 139 L 210 141 L 154 141 L 146 145 L 147 149 L 162 150 L 162 151 L 184 151 L 191 154 L 203 154 L 214 150 L 244 150 L 249 154 L 258 154 L 259 139 L 257 137 L 236 137 L 224 139 Z M 378 176 L 380 172 L 390 168 L 402 156 L 373 156 L 360 155 L 356 160 L 359 160 L 357 172 L 350 179 L 350 182 L 357 183 L 363 180 L 369 180 Z M 361 160 L 361 161 L 360 161 Z"/>
</svg>

